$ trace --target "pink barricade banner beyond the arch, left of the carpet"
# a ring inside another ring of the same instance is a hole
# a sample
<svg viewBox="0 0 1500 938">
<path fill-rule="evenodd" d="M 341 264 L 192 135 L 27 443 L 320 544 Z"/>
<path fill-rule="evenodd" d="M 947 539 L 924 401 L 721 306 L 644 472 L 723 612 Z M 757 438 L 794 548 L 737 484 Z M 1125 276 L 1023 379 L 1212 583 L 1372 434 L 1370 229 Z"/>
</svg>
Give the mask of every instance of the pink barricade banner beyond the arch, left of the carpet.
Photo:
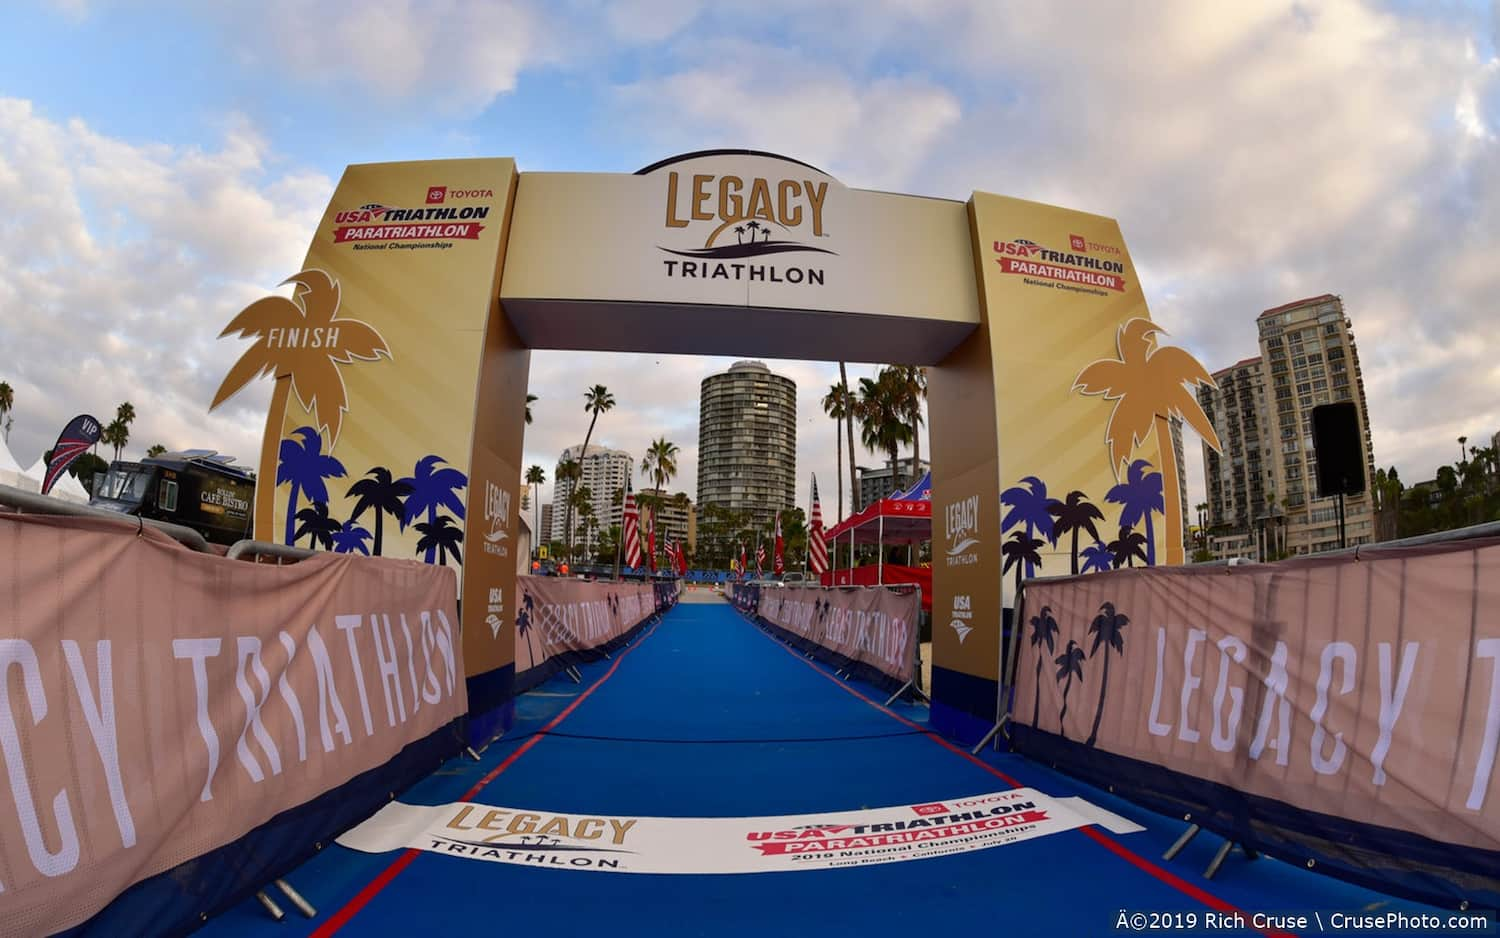
<svg viewBox="0 0 1500 938">
<path fill-rule="evenodd" d="M 516 692 L 592 660 L 656 612 L 646 582 L 518 576 Z"/>
</svg>

